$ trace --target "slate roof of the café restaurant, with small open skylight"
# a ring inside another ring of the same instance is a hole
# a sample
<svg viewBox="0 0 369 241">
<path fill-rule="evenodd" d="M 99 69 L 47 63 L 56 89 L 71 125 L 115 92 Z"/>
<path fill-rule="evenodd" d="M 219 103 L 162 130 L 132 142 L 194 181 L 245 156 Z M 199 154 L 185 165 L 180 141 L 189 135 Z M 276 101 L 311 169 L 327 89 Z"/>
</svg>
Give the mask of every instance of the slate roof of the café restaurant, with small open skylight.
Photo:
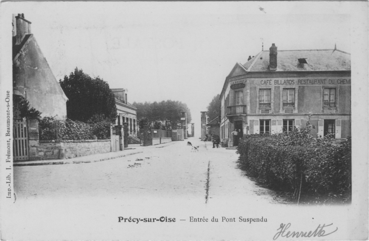
<svg viewBox="0 0 369 241">
<path fill-rule="evenodd" d="M 298 59 L 306 59 L 300 64 Z M 269 50 L 263 50 L 243 64 L 249 72 L 270 71 Z M 338 49 L 278 50 L 276 71 L 351 70 L 351 55 Z"/>
</svg>

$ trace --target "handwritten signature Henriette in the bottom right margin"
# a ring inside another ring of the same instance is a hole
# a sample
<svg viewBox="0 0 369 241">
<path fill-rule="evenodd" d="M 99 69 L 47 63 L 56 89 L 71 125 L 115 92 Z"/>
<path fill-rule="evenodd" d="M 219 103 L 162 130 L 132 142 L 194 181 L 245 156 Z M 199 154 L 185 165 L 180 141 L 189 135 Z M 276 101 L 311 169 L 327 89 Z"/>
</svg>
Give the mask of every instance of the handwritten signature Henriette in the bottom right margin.
<svg viewBox="0 0 369 241">
<path fill-rule="evenodd" d="M 328 225 L 325 225 L 323 224 L 323 226 L 321 226 L 320 224 L 318 225 L 318 227 L 314 230 L 314 231 L 288 231 L 286 233 L 286 230 L 291 226 L 290 223 L 288 223 L 287 225 L 286 224 L 283 224 L 281 223 L 279 228 L 277 230 L 280 230 L 279 232 L 277 232 L 274 237 L 273 237 L 273 240 L 276 240 L 279 236 L 280 237 L 286 237 L 286 238 L 289 238 L 289 237 L 311 237 L 311 236 L 318 236 L 318 237 L 322 237 L 322 236 L 327 236 L 327 235 L 330 235 L 332 233 L 334 233 L 335 231 L 338 230 L 338 227 L 336 227 L 336 230 L 334 230 L 333 232 L 331 233 L 325 233 L 325 230 L 324 228 L 325 227 L 328 227 L 328 226 L 331 226 L 333 225 L 333 223 L 331 224 L 328 224 Z"/>
</svg>

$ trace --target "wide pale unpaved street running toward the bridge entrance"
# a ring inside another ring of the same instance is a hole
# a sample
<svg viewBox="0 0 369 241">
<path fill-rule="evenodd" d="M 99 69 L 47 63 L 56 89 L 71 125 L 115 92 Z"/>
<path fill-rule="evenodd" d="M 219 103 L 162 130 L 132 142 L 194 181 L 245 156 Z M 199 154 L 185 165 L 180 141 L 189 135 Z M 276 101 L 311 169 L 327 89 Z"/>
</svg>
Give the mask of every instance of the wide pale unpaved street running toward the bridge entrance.
<svg viewBox="0 0 369 241">
<path fill-rule="evenodd" d="M 14 167 L 17 199 L 110 197 L 125 200 L 180 198 L 198 203 L 244 200 L 275 203 L 273 192 L 237 169 L 235 150 L 190 138 L 144 153 L 96 163 Z"/>
</svg>

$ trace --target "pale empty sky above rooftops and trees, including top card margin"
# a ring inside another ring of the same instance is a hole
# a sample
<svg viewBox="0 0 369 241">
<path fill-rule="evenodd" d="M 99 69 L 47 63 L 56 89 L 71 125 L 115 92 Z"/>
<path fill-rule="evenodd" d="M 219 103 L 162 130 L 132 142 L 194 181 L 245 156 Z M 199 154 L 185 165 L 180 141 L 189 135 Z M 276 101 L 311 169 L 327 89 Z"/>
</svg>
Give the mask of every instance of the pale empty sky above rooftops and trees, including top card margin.
<svg viewBox="0 0 369 241">
<path fill-rule="evenodd" d="M 200 136 L 200 112 L 235 64 L 269 49 L 351 52 L 348 2 L 11 2 L 24 13 L 56 80 L 76 67 L 128 101 L 186 103 Z M 350 10 L 351 9 L 351 10 Z"/>
</svg>

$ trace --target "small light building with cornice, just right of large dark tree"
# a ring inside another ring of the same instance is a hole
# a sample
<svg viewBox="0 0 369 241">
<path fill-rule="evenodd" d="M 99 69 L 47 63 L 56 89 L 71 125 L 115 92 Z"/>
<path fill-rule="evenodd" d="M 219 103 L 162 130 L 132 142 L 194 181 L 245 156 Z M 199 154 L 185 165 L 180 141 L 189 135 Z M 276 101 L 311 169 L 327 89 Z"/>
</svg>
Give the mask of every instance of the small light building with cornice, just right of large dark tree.
<svg viewBox="0 0 369 241">
<path fill-rule="evenodd" d="M 115 105 L 117 106 L 117 119 L 115 125 L 128 123 L 129 136 L 137 136 L 137 108 L 128 103 L 127 89 L 111 89 L 115 95 Z"/>
</svg>

